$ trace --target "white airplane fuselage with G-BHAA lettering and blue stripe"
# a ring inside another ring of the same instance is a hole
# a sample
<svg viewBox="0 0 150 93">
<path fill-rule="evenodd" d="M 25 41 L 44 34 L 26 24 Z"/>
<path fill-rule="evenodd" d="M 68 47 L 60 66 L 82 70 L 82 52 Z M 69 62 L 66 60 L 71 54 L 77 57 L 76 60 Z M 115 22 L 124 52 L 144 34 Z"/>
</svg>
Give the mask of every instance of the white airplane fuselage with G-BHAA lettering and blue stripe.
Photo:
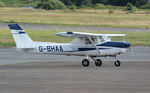
<svg viewBox="0 0 150 93">
<path fill-rule="evenodd" d="M 32 49 L 24 51 L 27 53 L 43 53 L 55 55 L 76 55 L 76 56 L 113 56 L 124 53 L 126 48 L 116 48 L 108 46 L 97 46 L 99 53 L 92 44 L 72 44 L 72 43 L 45 43 L 34 42 Z"/>
</svg>

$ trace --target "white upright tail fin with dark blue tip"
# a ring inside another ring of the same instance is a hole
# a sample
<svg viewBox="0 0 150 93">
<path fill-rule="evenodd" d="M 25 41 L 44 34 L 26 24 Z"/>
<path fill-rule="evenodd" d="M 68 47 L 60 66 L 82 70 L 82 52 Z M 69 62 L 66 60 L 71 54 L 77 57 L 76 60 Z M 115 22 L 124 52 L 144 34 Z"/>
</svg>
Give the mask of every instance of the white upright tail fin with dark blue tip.
<svg viewBox="0 0 150 93">
<path fill-rule="evenodd" d="M 33 41 L 18 24 L 9 24 L 17 48 L 31 48 Z"/>
</svg>

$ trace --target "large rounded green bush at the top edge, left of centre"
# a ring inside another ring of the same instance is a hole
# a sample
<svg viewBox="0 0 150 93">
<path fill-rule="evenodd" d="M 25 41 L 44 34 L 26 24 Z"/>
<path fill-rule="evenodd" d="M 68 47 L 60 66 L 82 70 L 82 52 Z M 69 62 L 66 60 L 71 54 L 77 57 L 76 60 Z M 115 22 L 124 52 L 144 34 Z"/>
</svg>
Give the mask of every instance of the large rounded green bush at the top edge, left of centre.
<svg viewBox="0 0 150 93">
<path fill-rule="evenodd" d="M 37 5 L 37 8 L 46 10 L 66 9 L 66 6 L 59 0 L 41 0 L 41 3 Z"/>
</svg>

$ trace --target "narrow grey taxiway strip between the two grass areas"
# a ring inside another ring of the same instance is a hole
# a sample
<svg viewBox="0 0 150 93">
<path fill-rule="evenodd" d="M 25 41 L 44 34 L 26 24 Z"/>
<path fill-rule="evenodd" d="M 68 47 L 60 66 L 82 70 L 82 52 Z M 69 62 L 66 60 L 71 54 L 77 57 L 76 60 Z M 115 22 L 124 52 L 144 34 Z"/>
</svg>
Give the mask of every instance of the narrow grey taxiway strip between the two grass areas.
<svg viewBox="0 0 150 93">
<path fill-rule="evenodd" d="M 0 28 L 8 29 L 9 23 L 0 23 Z M 23 29 L 33 30 L 66 30 L 66 31 L 119 31 L 119 32 L 149 32 L 149 28 L 116 28 L 116 27 L 102 27 L 102 26 L 61 26 L 48 24 L 25 24 L 19 23 Z"/>
</svg>

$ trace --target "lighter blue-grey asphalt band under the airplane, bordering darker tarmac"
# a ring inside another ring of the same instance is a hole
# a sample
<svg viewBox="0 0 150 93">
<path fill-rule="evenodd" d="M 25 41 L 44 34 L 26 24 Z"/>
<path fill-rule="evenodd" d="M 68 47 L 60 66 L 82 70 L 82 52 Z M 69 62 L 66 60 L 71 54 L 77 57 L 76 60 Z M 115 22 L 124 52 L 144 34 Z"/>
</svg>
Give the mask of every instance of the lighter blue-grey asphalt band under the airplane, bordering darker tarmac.
<svg viewBox="0 0 150 93">
<path fill-rule="evenodd" d="M 79 56 L 63 56 L 63 55 L 41 55 L 41 54 L 25 54 L 17 52 L 16 48 L 0 48 L 0 65 L 14 64 L 24 62 L 52 62 L 52 61 L 67 61 L 80 62 L 85 57 Z M 120 61 L 150 61 L 150 47 L 133 46 L 131 50 L 117 57 Z M 112 61 L 112 58 L 101 58 L 104 62 Z M 91 59 L 90 59 L 91 60 Z M 92 60 L 91 60 L 92 61 Z"/>
</svg>

